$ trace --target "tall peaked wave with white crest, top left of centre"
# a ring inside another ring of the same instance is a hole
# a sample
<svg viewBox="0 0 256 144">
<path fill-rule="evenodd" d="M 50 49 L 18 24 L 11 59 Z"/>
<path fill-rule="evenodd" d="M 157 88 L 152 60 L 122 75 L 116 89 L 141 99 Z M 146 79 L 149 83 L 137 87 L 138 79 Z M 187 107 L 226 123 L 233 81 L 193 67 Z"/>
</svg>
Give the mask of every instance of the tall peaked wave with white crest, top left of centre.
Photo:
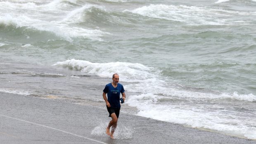
<svg viewBox="0 0 256 144">
<path fill-rule="evenodd" d="M 116 28 L 120 26 L 133 26 L 134 19 L 136 18 L 133 18 L 133 16 L 113 9 L 108 9 L 102 5 L 88 4 L 68 12 L 66 17 L 62 21 L 57 21 L 57 23 L 64 22 L 90 28 Z"/>
</svg>

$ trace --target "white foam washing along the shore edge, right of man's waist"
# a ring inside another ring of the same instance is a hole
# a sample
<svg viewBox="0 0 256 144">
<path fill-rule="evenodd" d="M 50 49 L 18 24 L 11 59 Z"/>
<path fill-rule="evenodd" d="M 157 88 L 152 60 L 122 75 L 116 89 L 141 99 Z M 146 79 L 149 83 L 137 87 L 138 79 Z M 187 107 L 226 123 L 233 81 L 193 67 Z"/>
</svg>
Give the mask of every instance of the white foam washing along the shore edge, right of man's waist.
<svg viewBox="0 0 256 144">
<path fill-rule="evenodd" d="M 129 96 L 126 104 L 137 107 L 140 111 L 138 116 L 163 120 L 171 123 L 179 123 L 204 129 L 215 130 L 238 137 L 256 139 L 256 127 L 254 122 L 235 115 L 226 114 L 212 109 L 201 109 L 200 106 L 188 106 L 183 104 L 156 104 L 159 97 L 154 94 L 141 94 Z M 243 119 L 243 121 L 241 121 Z"/>
</svg>

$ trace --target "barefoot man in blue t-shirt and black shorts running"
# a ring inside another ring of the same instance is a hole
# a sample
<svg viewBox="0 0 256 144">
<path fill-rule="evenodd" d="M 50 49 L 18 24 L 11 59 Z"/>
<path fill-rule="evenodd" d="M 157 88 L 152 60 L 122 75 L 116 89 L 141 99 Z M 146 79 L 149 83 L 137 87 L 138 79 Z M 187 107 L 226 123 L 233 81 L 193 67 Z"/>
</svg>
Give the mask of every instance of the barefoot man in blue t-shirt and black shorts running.
<svg viewBox="0 0 256 144">
<path fill-rule="evenodd" d="M 113 82 L 107 84 L 103 90 L 103 99 L 106 102 L 107 111 L 109 112 L 110 120 L 109 125 L 107 126 L 106 133 L 110 135 L 111 139 L 114 139 L 113 134 L 116 130 L 117 120 L 119 117 L 119 111 L 121 108 L 120 105 L 120 93 L 122 94 L 123 101 L 126 99 L 126 94 L 124 93 L 123 85 L 119 82 L 119 75 L 115 73 L 112 76 Z M 107 97 L 106 97 L 107 94 Z M 110 131 L 110 127 L 111 131 Z"/>
</svg>

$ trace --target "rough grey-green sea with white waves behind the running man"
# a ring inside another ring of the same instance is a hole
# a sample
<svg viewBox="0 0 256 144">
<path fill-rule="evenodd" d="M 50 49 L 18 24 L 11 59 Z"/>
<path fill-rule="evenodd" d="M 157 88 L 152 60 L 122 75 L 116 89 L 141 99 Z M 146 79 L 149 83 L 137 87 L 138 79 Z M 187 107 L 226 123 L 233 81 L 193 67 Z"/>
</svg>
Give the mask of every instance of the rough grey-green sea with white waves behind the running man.
<svg viewBox="0 0 256 144">
<path fill-rule="evenodd" d="M 256 139 L 255 0 L 2 0 L 0 91 Z M 136 109 L 135 109 L 136 108 Z"/>
</svg>

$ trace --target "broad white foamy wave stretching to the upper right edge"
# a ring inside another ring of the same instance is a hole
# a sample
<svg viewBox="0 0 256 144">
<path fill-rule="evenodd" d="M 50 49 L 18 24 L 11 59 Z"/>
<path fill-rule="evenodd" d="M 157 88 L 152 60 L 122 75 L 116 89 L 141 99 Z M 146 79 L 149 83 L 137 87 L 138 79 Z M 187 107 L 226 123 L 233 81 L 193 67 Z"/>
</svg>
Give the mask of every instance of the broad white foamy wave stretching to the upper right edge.
<svg viewBox="0 0 256 144">
<path fill-rule="evenodd" d="M 254 14 L 254 12 L 237 12 L 214 7 L 196 7 L 186 5 L 149 5 L 133 10 L 124 10 L 144 17 L 180 21 L 190 25 L 232 25 L 232 16 L 237 14 Z M 230 20 L 229 20 L 230 19 Z M 237 21 L 237 23 L 242 21 Z"/>
</svg>

